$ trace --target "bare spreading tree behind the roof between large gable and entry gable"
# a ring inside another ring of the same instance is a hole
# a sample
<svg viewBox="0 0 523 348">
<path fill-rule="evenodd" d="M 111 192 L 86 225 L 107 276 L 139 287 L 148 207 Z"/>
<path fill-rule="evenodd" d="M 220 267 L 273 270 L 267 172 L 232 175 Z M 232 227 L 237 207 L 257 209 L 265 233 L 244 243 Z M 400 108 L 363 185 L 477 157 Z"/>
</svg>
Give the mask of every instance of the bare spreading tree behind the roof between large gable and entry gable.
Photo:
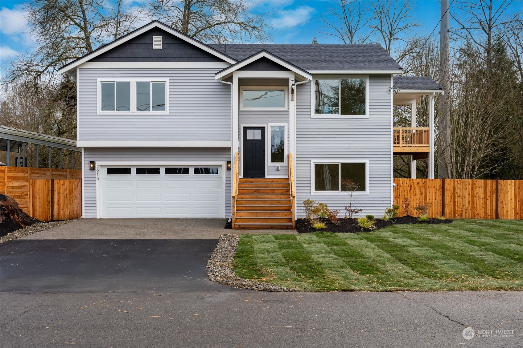
<svg viewBox="0 0 523 348">
<path fill-rule="evenodd" d="M 167 25 L 207 43 L 264 41 L 264 16 L 246 0 L 152 0 L 145 8 Z"/>
</svg>

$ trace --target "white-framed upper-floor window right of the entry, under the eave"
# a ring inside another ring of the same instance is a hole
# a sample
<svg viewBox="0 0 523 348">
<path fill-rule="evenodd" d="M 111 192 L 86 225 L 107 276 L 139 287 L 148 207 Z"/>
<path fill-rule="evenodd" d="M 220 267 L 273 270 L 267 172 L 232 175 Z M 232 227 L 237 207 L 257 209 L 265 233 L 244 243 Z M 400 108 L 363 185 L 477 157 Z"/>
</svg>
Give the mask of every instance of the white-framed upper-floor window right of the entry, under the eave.
<svg viewBox="0 0 523 348">
<path fill-rule="evenodd" d="M 369 117 L 369 76 L 316 76 L 311 117 Z"/>
</svg>

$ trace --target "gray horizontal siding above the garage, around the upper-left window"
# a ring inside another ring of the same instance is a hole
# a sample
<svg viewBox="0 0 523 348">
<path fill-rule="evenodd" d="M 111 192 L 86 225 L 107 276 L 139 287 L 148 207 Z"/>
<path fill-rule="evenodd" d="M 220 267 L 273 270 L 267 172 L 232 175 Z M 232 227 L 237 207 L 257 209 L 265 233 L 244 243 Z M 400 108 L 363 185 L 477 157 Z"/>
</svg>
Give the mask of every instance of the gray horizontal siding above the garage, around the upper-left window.
<svg viewBox="0 0 523 348">
<path fill-rule="evenodd" d="M 231 88 L 217 69 L 80 68 L 78 140 L 231 140 Z M 169 78 L 169 114 L 97 114 L 97 78 Z"/>
</svg>

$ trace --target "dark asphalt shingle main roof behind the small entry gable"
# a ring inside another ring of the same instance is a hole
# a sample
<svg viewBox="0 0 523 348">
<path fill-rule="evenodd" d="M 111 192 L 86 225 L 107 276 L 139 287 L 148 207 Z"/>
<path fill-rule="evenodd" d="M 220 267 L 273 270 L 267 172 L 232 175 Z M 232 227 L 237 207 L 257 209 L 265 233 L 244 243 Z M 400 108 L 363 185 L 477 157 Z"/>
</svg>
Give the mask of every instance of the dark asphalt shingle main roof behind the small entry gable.
<svg viewBox="0 0 523 348">
<path fill-rule="evenodd" d="M 209 44 L 237 61 L 266 50 L 306 71 L 400 70 L 401 66 L 379 44 Z"/>
</svg>

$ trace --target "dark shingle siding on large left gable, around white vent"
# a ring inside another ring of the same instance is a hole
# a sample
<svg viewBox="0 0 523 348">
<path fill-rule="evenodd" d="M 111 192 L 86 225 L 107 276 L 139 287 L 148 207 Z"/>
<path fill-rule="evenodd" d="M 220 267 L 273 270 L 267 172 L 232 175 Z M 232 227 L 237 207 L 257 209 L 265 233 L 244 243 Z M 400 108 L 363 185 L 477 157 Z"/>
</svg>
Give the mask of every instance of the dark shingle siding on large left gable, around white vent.
<svg viewBox="0 0 523 348">
<path fill-rule="evenodd" d="M 153 50 L 153 36 L 163 37 L 162 50 Z M 151 29 L 119 46 L 93 57 L 92 62 L 223 62 L 195 45 L 167 33 Z"/>
</svg>

